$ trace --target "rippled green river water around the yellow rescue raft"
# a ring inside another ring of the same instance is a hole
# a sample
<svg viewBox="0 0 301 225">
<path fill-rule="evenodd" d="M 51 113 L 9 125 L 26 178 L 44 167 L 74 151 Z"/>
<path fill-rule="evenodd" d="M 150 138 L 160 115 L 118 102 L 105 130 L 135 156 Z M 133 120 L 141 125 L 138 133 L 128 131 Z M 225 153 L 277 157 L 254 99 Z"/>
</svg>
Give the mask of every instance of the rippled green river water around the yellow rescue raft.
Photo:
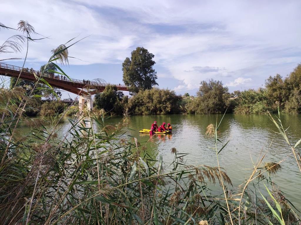
<svg viewBox="0 0 301 225">
<path fill-rule="evenodd" d="M 148 134 L 139 134 L 138 131 L 151 127 L 154 120 L 160 125 L 162 122 L 172 124 L 172 134 L 155 135 L 146 144 L 148 153 L 159 158 L 163 155 L 165 166 L 172 162 L 174 155 L 170 149 L 175 147 L 179 153 L 189 153 L 185 156 L 186 164 L 216 166 L 216 152 L 209 147 L 214 147 L 213 138 L 205 136 L 207 125 L 216 124 L 222 115 L 159 115 L 159 116 L 131 116 L 131 123 L 128 134 L 137 137 L 138 142 L 144 144 L 149 140 Z M 113 116 L 106 120 L 107 124 L 116 124 L 122 117 Z M 288 127 L 287 136 L 292 145 L 301 138 L 301 116 L 281 115 L 282 124 Z M 63 136 L 70 127 L 67 119 L 59 125 Z M 244 182 L 253 169 L 253 162 L 262 151 L 266 153 L 263 162 L 279 162 L 283 167 L 277 175 L 272 176 L 272 180 L 284 192 L 299 210 L 301 209 L 301 173 L 296 164 L 296 160 L 291 153 L 290 146 L 284 138 L 275 133 L 277 128 L 267 115 L 240 115 L 226 114 L 219 128 L 218 138 L 222 143 L 221 148 L 228 140 L 228 145 L 219 154 L 220 165 L 225 168 L 232 180 L 234 189 Z M 297 147 L 300 150 L 301 144 Z M 256 180 L 255 180 L 256 181 Z M 218 187 L 218 184 L 216 185 Z M 238 192 L 238 190 L 236 190 Z"/>
</svg>

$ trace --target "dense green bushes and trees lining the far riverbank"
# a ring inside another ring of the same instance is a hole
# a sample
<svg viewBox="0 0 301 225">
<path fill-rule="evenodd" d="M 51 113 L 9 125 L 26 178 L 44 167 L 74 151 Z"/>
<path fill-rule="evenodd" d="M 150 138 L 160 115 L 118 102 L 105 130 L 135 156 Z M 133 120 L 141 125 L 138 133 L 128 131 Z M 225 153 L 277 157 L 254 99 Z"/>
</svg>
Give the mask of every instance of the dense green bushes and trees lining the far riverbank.
<svg viewBox="0 0 301 225">
<path fill-rule="evenodd" d="M 228 113 L 259 114 L 277 112 L 301 113 L 301 64 L 285 79 L 277 74 L 269 77 L 265 88 L 258 90 L 249 89 L 245 91 L 234 91 L 229 93 L 228 88 L 221 81 L 209 80 L 200 83 L 196 96 L 176 95 L 174 91 L 159 88 L 140 88 L 138 92 L 132 93 L 129 99 L 120 104 L 117 100 L 117 90 L 111 93 L 100 93 L 97 99 L 105 96 L 106 99 L 116 99 L 114 104 L 106 107 L 107 112 L 121 115 L 126 109 L 133 115 L 155 115 L 155 114 L 212 114 Z M 233 97 L 238 95 L 238 97 Z M 116 109 L 115 109 L 116 108 Z"/>
</svg>

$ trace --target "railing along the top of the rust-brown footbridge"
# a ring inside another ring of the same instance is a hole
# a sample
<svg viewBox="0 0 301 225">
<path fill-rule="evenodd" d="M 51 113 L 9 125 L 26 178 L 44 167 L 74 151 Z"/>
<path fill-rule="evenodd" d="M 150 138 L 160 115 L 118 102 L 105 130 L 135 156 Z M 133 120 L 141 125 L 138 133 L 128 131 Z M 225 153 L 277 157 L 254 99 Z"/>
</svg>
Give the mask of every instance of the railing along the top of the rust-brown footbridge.
<svg viewBox="0 0 301 225">
<path fill-rule="evenodd" d="M 34 70 L 34 69 L 28 69 L 28 68 L 22 68 L 20 66 L 13 66 L 13 65 L 9 65 L 9 64 L 5 64 L 5 63 L 0 63 L 0 68 L 3 69 L 8 69 L 8 70 L 13 70 L 13 71 L 18 71 L 22 73 L 28 73 L 28 74 L 36 74 L 36 76 L 41 76 L 41 72 Z M 77 84 L 82 84 L 82 85 L 91 85 L 91 86 L 107 86 L 107 85 L 115 85 L 115 84 L 110 84 L 110 83 L 103 83 L 103 82 L 95 82 L 95 81 L 89 81 L 89 82 L 83 82 L 83 80 L 78 80 L 78 79 L 68 79 L 67 77 L 63 76 L 63 75 L 56 75 L 56 74 L 50 74 L 48 72 L 44 72 L 42 77 L 47 77 L 47 78 L 51 78 L 51 79 L 58 79 L 64 82 L 72 82 L 72 83 L 77 83 Z M 126 88 L 126 85 L 116 85 L 116 87 L 119 88 Z"/>
</svg>

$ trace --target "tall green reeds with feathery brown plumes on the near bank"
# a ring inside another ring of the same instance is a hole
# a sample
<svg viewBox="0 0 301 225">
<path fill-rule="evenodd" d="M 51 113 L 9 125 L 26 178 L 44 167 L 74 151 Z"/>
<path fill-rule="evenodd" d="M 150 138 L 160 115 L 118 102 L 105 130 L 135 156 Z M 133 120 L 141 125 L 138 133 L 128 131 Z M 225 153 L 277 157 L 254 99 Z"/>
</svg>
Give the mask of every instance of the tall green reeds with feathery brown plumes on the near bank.
<svg viewBox="0 0 301 225">
<path fill-rule="evenodd" d="M 25 21 L 20 26 L 28 38 L 31 26 Z M 48 64 L 60 68 L 55 60 L 64 61 L 66 54 L 63 56 L 62 51 L 73 44 L 53 51 L 45 68 Z M 35 91 L 39 90 L 37 84 L 42 82 L 44 72 L 45 69 L 31 91 L 5 85 L 0 88 L 0 221 L 3 224 L 300 223 L 300 211 L 272 180 L 286 157 L 293 156 L 301 172 L 297 152 L 300 141 L 291 144 L 280 114 L 279 118 L 270 116 L 270 119 L 290 153 L 278 162 L 265 162 L 265 153 L 261 152 L 246 179 L 239 186 L 232 186 L 226 168 L 219 163 L 228 143 L 222 143 L 219 137 L 222 120 L 208 125 L 206 132 L 210 149 L 215 152 L 213 166 L 204 162 L 189 165 L 185 161 L 189 149 L 179 152 L 177 146 L 170 149 L 174 156 L 171 162 L 165 162 L 162 155 L 152 158 L 147 142 L 139 143 L 136 137 L 128 135 L 127 112 L 119 123 L 106 125 L 104 110 L 98 111 L 101 115 L 97 116 L 83 110 L 69 119 L 70 128 L 59 136 L 57 125 L 68 109 L 61 114 L 54 110 L 55 116 L 43 119 L 29 119 L 24 114 L 28 103 L 39 98 Z M 200 99 L 214 93 L 217 100 L 225 101 L 221 94 L 227 90 L 221 82 L 217 83 L 218 90 L 214 86 L 210 88 L 214 84 L 213 81 L 203 83 Z M 55 93 L 53 89 L 50 91 Z M 106 92 L 115 91 L 109 87 Z M 143 97 L 144 93 L 139 92 L 138 96 Z M 160 90 L 150 89 L 147 96 L 162 98 L 158 93 Z M 172 91 L 164 92 L 165 95 L 169 96 L 166 101 L 177 97 Z M 117 94 L 115 100 L 120 99 Z M 138 100 L 134 103 L 138 104 Z M 51 110 L 51 104 L 47 104 L 45 112 Z M 130 99 L 128 104 L 132 104 Z M 208 103 L 215 104 L 215 101 Z M 226 106 L 225 102 L 223 107 Z M 205 105 L 199 107 L 207 110 Z M 170 109 L 159 108 L 154 112 Z M 29 133 L 20 132 L 21 122 L 28 124 Z M 219 189 L 216 193 L 212 191 L 214 185 Z"/>
</svg>

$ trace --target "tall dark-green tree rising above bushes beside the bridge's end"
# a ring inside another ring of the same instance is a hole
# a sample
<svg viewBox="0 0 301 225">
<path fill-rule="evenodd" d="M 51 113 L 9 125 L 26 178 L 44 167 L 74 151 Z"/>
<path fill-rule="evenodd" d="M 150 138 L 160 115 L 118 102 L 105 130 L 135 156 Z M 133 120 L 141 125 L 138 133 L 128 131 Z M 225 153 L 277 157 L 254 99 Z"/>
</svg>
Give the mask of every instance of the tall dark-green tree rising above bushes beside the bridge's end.
<svg viewBox="0 0 301 225">
<path fill-rule="evenodd" d="M 131 54 L 131 59 L 127 57 L 122 63 L 123 82 L 129 87 L 130 93 L 136 94 L 139 90 L 158 85 L 157 72 L 153 68 L 156 63 L 154 54 L 143 47 L 137 47 Z"/>
</svg>

